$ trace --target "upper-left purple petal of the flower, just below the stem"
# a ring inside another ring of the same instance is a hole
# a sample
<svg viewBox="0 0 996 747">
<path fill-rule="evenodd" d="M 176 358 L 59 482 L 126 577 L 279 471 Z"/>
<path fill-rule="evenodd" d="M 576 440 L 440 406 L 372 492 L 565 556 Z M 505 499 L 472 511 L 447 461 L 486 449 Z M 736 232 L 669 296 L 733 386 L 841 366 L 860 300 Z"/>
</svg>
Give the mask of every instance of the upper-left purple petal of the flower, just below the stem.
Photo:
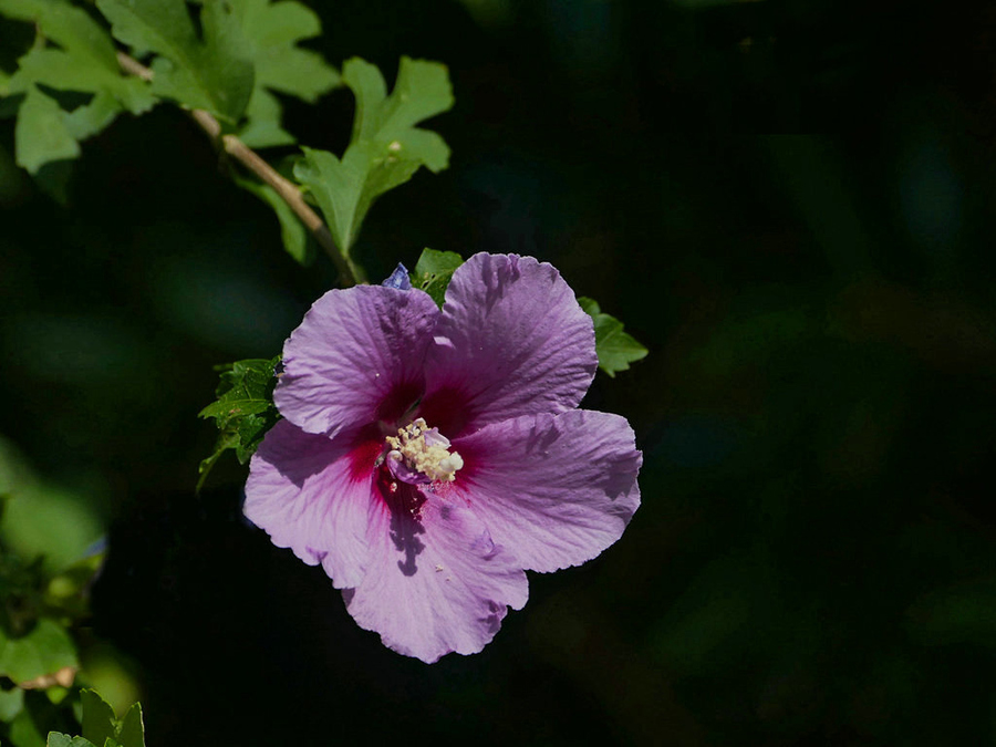
<svg viewBox="0 0 996 747">
<path fill-rule="evenodd" d="M 329 291 L 283 346 L 277 408 L 303 430 L 328 436 L 396 421 L 422 394 L 423 360 L 438 317 L 419 290 Z"/>
</svg>

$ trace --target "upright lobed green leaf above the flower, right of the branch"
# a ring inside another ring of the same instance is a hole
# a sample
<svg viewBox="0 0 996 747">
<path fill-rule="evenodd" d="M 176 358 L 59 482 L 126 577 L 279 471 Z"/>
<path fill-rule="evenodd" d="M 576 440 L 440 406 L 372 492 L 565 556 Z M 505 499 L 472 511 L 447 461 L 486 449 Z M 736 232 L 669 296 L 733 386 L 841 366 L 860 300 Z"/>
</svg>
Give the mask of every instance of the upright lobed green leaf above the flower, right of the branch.
<svg viewBox="0 0 996 747">
<path fill-rule="evenodd" d="M 356 96 L 350 145 L 342 159 L 303 148 L 294 175 L 312 190 L 347 257 L 380 195 L 411 179 L 421 166 L 439 172 L 449 164 L 443 138 L 414 125 L 453 106 L 453 92 L 445 65 L 408 58 L 401 60 L 390 96 L 381 72 L 363 60 L 349 60 L 342 77 Z"/>
</svg>

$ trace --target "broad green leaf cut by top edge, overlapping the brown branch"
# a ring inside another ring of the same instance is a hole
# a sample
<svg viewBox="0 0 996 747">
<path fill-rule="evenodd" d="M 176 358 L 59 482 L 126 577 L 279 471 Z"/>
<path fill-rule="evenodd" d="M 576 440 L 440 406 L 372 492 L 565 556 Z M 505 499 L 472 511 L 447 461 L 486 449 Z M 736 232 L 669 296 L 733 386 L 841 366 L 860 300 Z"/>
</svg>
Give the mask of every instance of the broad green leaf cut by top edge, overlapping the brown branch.
<svg viewBox="0 0 996 747">
<path fill-rule="evenodd" d="M 237 122 L 252 95 L 249 44 L 232 0 L 204 0 L 203 38 L 179 0 L 97 0 L 111 32 L 133 48 L 155 52 L 153 93 Z"/>
</svg>

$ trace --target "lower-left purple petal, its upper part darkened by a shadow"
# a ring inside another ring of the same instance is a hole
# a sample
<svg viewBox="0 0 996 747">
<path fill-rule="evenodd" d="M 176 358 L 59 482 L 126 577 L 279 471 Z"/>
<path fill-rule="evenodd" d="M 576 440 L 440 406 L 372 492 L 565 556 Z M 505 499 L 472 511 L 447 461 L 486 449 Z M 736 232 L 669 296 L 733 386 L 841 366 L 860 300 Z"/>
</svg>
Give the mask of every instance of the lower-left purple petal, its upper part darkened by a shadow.
<svg viewBox="0 0 996 747">
<path fill-rule="evenodd" d="M 321 563 L 339 589 L 360 583 L 369 553 L 373 468 L 357 469 L 356 454 L 350 434 L 330 439 L 279 421 L 252 456 L 246 483 L 246 517 L 277 547 Z"/>
</svg>

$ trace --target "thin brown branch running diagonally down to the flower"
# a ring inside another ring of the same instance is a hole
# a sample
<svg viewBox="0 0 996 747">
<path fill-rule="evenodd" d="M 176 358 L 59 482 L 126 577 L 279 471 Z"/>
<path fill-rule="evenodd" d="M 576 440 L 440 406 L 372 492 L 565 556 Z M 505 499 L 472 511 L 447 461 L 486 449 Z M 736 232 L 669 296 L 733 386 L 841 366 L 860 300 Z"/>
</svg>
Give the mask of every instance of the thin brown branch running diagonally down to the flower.
<svg viewBox="0 0 996 747">
<path fill-rule="evenodd" d="M 128 56 L 124 52 L 117 53 L 117 62 L 121 69 L 132 75 L 137 75 L 144 81 L 152 81 L 153 71 L 143 65 L 134 58 Z M 343 257 L 342 252 L 335 246 L 332 232 L 322 221 L 318 214 L 311 209 L 311 206 L 304 201 L 301 190 L 298 186 L 284 179 L 277 170 L 266 160 L 260 158 L 252 148 L 242 143 L 235 135 L 222 135 L 220 123 L 208 112 L 200 108 L 190 111 L 190 116 L 200 125 L 200 128 L 208 136 L 220 142 L 225 153 L 238 160 L 242 166 L 252 172 L 259 179 L 272 187 L 280 198 L 290 206 L 294 215 L 301 219 L 301 222 L 311 231 L 311 235 L 321 245 L 325 253 L 332 258 L 335 269 L 342 276 L 344 286 L 355 286 L 362 279 L 362 272 L 347 257 Z"/>
</svg>

